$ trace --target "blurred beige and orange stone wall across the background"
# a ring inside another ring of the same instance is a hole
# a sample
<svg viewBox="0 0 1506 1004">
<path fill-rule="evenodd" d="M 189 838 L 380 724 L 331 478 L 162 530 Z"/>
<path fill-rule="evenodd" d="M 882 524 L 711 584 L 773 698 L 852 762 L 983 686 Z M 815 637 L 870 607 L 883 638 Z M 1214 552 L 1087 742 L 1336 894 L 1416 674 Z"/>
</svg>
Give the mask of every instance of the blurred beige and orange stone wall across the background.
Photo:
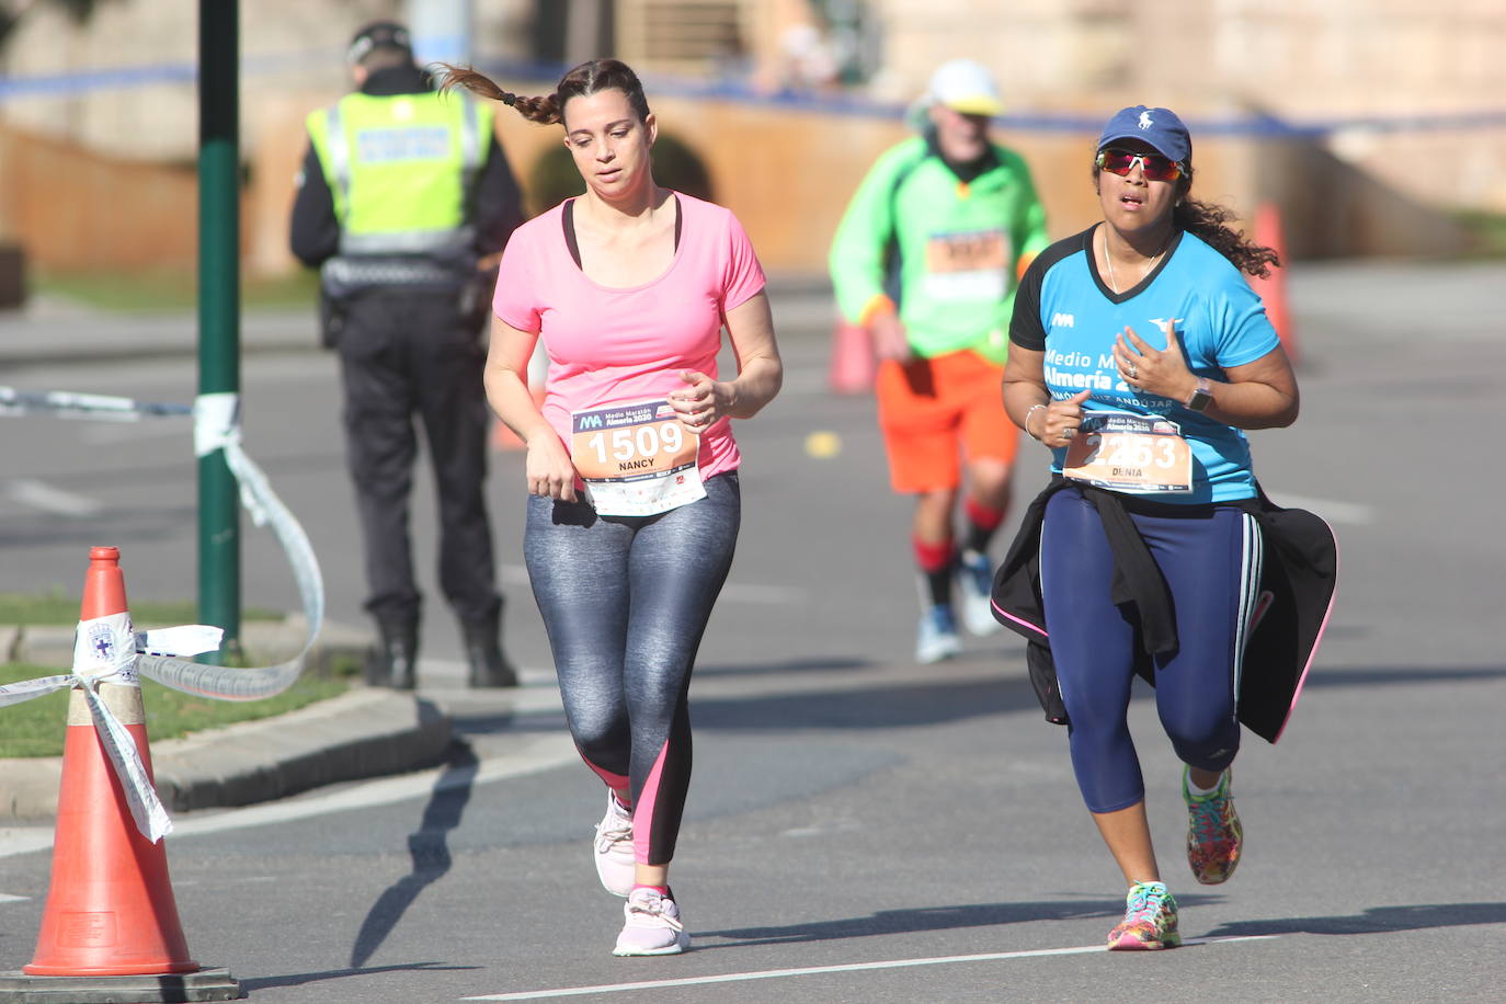
<svg viewBox="0 0 1506 1004">
<path fill-rule="evenodd" d="M 998 74 L 1014 113 L 1086 123 L 1020 122 L 1000 134 L 1030 161 L 1057 236 L 1095 218 L 1092 123 L 1137 102 L 1173 107 L 1194 123 L 1199 197 L 1241 217 L 1264 202 L 1279 205 L 1295 257 L 1458 251 L 1462 233 L 1449 211 L 1506 212 L 1498 167 L 1506 163 L 1506 60 L 1495 56 L 1506 51 L 1501 0 L 870 3 L 881 15 L 886 65 L 867 96 L 907 101 L 935 63 L 971 56 Z M 301 119 L 348 86 L 342 53 L 354 26 L 401 17 L 404 8 L 399 0 L 242 0 L 248 268 L 292 266 L 286 217 Z M 530 11 L 532 0 L 477 3 L 477 56 L 526 57 Z M 755 42 L 771 36 L 771 29 L 751 35 Z M 119 0 L 99 5 L 87 30 L 60 15 L 33 15 L 5 69 L 27 78 L 182 68 L 196 62 L 196 47 L 191 5 Z M 706 158 L 718 197 L 744 218 L 774 269 L 822 268 L 858 178 L 905 135 L 898 120 L 870 114 L 651 98 L 664 128 Z M 1491 110 L 1495 125 L 1470 117 Z M 1254 137 L 1251 113 L 1336 128 Z M 1461 117 L 1447 128 L 1429 119 L 1441 114 Z M 545 143 L 559 141 L 557 131 L 515 116 L 498 120 L 520 175 Z M 191 260 L 191 81 L 11 99 L 0 102 L 5 125 L 0 238 L 20 241 L 38 266 L 127 265 L 149 254 Z"/>
</svg>

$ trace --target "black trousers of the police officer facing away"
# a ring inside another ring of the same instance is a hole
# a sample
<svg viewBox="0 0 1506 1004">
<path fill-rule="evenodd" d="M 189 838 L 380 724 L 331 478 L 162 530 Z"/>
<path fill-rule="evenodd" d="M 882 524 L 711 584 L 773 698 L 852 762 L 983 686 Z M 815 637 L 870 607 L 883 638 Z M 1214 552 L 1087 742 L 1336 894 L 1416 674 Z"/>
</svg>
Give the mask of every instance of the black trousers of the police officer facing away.
<svg viewBox="0 0 1506 1004">
<path fill-rule="evenodd" d="M 465 623 L 495 623 L 500 601 L 486 519 L 486 396 L 476 322 L 441 292 L 364 292 L 348 301 L 336 340 L 345 438 L 366 545 L 366 610 L 416 625 L 408 495 L 425 432 L 440 513 L 440 587 Z"/>
</svg>

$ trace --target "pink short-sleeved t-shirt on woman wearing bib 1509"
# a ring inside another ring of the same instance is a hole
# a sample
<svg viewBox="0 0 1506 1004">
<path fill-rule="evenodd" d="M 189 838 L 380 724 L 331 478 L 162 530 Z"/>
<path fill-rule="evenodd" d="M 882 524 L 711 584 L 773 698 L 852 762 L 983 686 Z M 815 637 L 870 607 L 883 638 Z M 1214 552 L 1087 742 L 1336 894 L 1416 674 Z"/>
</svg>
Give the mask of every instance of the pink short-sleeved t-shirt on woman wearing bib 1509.
<svg viewBox="0 0 1506 1004">
<path fill-rule="evenodd" d="M 642 286 L 614 289 L 586 277 L 565 244 L 563 203 L 508 239 L 492 310 L 544 340 L 542 411 L 566 446 L 572 411 L 664 399 L 688 385 L 681 370 L 718 379 L 726 313 L 764 289 L 764 268 L 736 217 L 700 199 L 675 199 L 675 260 Z M 736 470 L 739 461 L 727 418 L 700 434 L 702 477 Z"/>
</svg>

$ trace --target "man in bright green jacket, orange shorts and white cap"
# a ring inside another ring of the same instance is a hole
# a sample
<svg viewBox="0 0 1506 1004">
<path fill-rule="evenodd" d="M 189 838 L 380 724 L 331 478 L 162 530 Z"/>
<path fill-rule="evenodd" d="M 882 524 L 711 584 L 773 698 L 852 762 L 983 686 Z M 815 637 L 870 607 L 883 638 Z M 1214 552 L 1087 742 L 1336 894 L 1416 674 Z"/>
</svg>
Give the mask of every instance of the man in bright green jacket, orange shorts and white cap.
<svg viewBox="0 0 1506 1004">
<path fill-rule="evenodd" d="M 982 65 L 937 68 L 911 110 L 920 135 L 878 158 L 831 244 L 837 309 L 867 328 L 881 360 L 875 391 L 890 482 L 916 495 L 917 662 L 961 652 L 953 580 L 968 631 L 998 629 L 988 545 L 1009 507 L 1018 446 L 1000 381 L 1015 284 L 1050 244 L 1024 160 L 989 138 L 1001 110 Z"/>
</svg>

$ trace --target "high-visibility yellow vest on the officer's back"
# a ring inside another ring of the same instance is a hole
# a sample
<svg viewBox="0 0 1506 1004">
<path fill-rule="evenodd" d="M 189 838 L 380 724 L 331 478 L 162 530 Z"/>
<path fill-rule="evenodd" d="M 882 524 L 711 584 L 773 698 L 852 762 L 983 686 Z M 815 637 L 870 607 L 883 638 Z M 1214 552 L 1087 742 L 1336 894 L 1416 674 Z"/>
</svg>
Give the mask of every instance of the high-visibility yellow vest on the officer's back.
<svg viewBox="0 0 1506 1004">
<path fill-rule="evenodd" d="M 491 110 L 465 95 L 352 93 L 307 117 L 340 224 L 340 254 L 468 251 L 468 197 Z"/>
</svg>

